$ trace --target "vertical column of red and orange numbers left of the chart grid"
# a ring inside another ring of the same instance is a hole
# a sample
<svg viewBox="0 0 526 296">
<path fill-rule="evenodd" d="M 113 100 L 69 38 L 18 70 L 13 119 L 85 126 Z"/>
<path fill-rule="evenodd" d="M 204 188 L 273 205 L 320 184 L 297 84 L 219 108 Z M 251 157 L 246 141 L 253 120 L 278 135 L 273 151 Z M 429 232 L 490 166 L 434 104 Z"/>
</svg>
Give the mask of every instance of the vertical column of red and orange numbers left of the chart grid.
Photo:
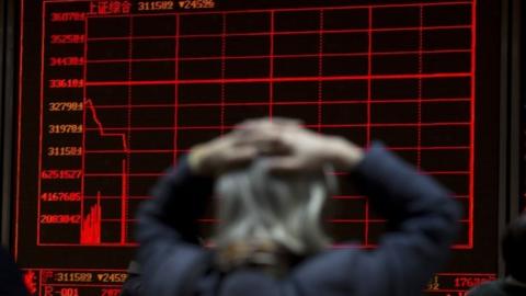
<svg viewBox="0 0 526 296">
<path fill-rule="evenodd" d="M 79 242 L 88 9 L 88 2 L 43 3 L 37 244 Z"/>
</svg>

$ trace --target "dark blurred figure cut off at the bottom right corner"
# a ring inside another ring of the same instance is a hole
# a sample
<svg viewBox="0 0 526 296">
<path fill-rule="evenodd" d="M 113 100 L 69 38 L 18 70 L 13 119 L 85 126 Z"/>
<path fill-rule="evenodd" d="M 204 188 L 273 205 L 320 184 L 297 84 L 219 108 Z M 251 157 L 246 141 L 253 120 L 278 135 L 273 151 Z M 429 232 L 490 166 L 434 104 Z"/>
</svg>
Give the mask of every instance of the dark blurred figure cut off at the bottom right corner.
<svg viewBox="0 0 526 296">
<path fill-rule="evenodd" d="M 473 287 L 468 296 L 526 295 L 526 212 L 507 227 L 502 239 L 502 255 L 508 275 Z"/>
</svg>

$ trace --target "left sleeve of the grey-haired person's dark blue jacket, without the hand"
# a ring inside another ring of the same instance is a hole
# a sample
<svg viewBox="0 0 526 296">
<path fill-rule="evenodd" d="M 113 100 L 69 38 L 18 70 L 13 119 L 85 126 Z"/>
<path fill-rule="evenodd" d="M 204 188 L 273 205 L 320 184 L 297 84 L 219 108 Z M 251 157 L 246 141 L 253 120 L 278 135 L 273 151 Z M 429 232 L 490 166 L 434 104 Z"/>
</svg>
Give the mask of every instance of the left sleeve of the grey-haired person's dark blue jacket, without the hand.
<svg viewBox="0 0 526 296">
<path fill-rule="evenodd" d="M 161 178 L 137 215 L 138 261 L 148 295 L 185 295 L 192 271 L 207 261 L 197 246 L 196 219 L 213 192 L 214 179 L 179 161 Z"/>
</svg>

